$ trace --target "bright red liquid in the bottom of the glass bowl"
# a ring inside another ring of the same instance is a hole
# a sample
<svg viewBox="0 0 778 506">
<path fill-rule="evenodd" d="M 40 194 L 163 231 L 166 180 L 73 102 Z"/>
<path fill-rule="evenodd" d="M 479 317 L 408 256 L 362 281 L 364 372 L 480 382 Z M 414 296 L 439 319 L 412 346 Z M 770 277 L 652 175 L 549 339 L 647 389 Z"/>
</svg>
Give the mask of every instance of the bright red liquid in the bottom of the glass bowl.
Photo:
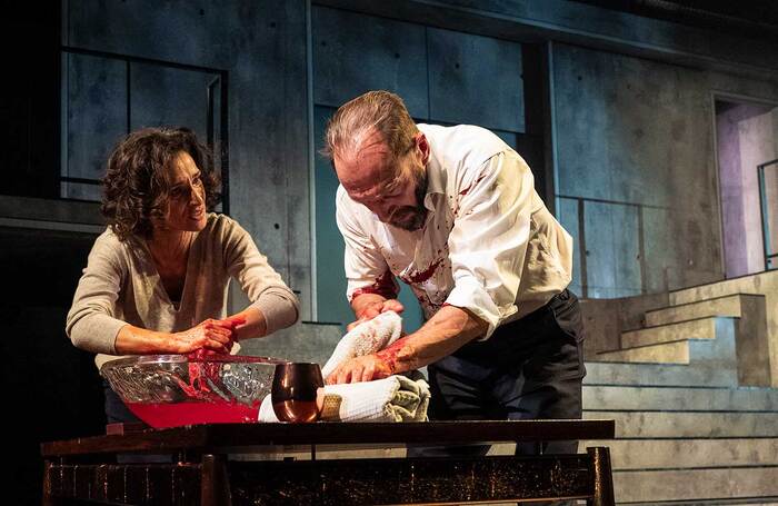
<svg viewBox="0 0 778 506">
<path fill-rule="evenodd" d="M 259 405 L 239 403 L 128 403 L 134 415 L 153 428 L 197 424 L 247 424 L 257 421 Z"/>
</svg>

